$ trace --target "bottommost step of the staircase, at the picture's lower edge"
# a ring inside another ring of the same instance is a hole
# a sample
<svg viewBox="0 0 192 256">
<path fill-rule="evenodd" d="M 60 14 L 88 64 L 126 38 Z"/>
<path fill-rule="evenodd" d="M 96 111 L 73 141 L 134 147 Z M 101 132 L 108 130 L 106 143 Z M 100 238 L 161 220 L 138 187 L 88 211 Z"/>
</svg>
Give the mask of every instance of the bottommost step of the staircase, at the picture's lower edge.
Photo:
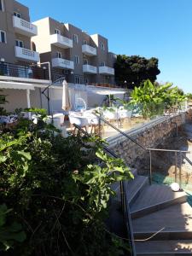
<svg viewBox="0 0 192 256">
<path fill-rule="evenodd" d="M 136 253 L 138 256 L 192 255 L 192 241 L 137 241 Z"/>
</svg>

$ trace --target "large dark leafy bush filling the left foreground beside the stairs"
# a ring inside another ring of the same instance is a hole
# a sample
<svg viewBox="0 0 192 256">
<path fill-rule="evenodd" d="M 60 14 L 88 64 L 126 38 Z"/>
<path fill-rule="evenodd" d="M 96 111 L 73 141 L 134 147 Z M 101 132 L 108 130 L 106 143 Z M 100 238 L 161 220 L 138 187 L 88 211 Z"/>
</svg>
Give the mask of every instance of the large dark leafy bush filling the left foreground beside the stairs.
<svg viewBox="0 0 192 256">
<path fill-rule="evenodd" d="M 111 184 L 132 175 L 123 160 L 104 154 L 103 143 L 53 136 L 46 124 L 24 120 L 2 134 L 0 199 L 26 232 L 5 255 L 119 256 L 128 250 L 104 222 L 115 195 Z"/>
</svg>

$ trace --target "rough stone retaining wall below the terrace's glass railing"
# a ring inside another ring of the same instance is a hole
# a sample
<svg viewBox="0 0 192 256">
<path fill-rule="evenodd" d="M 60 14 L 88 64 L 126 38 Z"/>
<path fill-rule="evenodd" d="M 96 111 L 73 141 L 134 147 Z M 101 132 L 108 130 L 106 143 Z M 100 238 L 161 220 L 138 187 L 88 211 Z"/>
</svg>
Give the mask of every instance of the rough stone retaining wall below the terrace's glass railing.
<svg viewBox="0 0 192 256">
<path fill-rule="evenodd" d="M 144 148 L 157 148 L 165 143 L 167 137 L 176 136 L 176 124 L 179 131 L 185 121 L 186 113 L 172 117 L 160 117 L 151 120 L 147 125 L 128 131 L 126 134 L 143 145 Z M 148 172 L 149 154 L 147 150 L 137 146 L 136 143 L 122 135 L 108 138 L 108 143 L 108 148 L 121 156 L 128 166 L 137 168 L 140 174 Z"/>
</svg>

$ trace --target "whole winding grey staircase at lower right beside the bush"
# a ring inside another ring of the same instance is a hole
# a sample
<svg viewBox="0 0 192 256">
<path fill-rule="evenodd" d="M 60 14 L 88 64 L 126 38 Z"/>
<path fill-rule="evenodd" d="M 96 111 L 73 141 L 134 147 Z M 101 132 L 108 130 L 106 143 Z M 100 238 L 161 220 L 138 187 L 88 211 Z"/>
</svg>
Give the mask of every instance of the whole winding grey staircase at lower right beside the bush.
<svg viewBox="0 0 192 256">
<path fill-rule="evenodd" d="M 166 185 L 149 185 L 148 177 L 137 171 L 134 175 L 125 193 L 137 255 L 192 255 L 192 208 L 186 194 Z"/>
</svg>

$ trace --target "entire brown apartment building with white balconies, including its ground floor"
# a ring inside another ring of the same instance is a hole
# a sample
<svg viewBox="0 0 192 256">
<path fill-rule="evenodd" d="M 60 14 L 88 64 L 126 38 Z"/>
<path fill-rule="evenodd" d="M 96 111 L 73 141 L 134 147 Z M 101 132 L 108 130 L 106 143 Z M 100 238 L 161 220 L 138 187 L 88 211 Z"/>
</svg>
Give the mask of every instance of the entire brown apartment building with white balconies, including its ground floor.
<svg viewBox="0 0 192 256">
<path fill-rule="evenodd" d="M 99 90 L 105 90 L 114 84 L 115 61 L 107 38 L 51 18 L 32 23 L 26 6 L 0 0 L 0 90 L 7 96 L 8 112 L 31 107 L 62 112 L 61 81 L 52 83 L 63 76 L 69 82 L 73 109 L 79 98 L 88 108 L 99 105 L 104 96 L 88 97 L 88 89 L 100 85 Z"/>
</svg>

